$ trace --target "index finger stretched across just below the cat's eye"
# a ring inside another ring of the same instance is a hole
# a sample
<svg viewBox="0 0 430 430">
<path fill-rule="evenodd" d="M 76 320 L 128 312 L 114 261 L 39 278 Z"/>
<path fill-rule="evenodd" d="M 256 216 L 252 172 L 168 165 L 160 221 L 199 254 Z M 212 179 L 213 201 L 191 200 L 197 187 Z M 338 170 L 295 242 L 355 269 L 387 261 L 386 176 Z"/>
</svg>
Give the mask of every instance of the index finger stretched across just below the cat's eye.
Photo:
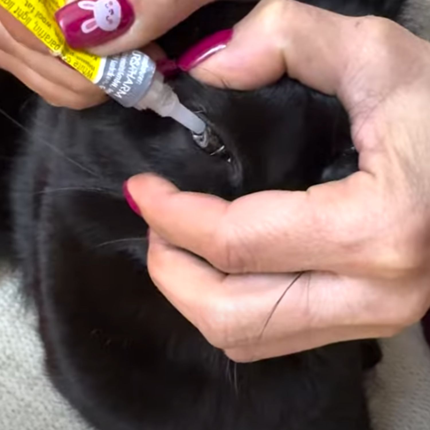
<svg viewBox="0 0 430 430">
<path fill-rule="evenodd" d="M 403 258 L 396 258 L 402 250 L 391 215 L 407 215 L 387 213 L 390 202 L 365 172 L 306 192 L 264 191 L 233 203 L 179 192 L 154 175 L 135 176 L 128 188 L 153 230 L 226 273 L 332 270 L 363 275 L 364 267 L 379 275 L 385 268 L 393 276 L 392 266 Z M 381 213 L 387 215 L 381 218 Z"/>
</svg>

